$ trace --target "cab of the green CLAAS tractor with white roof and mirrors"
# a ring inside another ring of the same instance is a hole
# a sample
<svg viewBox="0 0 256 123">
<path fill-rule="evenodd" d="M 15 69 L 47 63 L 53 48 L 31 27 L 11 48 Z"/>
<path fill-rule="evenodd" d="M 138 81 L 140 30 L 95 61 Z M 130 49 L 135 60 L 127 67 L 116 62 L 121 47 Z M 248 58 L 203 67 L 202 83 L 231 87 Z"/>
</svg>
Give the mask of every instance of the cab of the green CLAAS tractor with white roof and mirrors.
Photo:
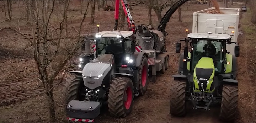
<svg viewBox="0 0 256 123">
<path fill-rule="evenodd" d="M 232 32 L 233 33 L 233 32 Z M 187 61 L 188 72 L 194 72 L 199 65 L 203 63 L 204 67 L 207 64 L 212 64 L 215 73 L 226 73 L 230 65 L 231 54 L 226 49 L 226 44 L 231 44 L 231 37 L 229 34 L 212 34 L 208 33 L 190 33 L 187 35 L 189 38 L 187 43 L 190 43 L 188 48 L 187 57 L 183 61 Z M 180 43 L 176 44 L 176 53 L 180 52 Z M 235 56 L 239 56 L 239 46 L 235 46 Z M 209 66 L 212 68 L 212 66 Z M 229 71 L 229 70 L 228 70 Z M 181 72 L 181 71 L 179 71 Z M 183 71 L 184 72 L 184 71 Z"/>
</svg>

